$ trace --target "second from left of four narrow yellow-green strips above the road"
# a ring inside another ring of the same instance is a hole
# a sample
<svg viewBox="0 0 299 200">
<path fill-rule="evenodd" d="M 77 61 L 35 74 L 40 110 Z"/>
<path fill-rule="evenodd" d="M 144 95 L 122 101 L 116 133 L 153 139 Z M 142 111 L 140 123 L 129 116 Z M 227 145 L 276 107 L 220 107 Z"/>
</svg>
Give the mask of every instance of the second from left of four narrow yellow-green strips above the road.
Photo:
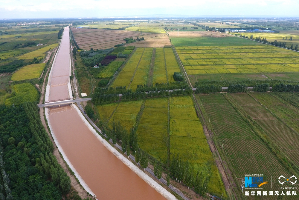
<svg viewBox="0 0 299 200">
<path fill-rule="evenodd" d="M 143 56 L 134 75 L 134 79 L 129 88 L 135 90 L 137 88 L 137 85 L 146 84 L 150 61 L 152 59 L 152 50 L 152 48 L 145 48 Z"/>
</svg>

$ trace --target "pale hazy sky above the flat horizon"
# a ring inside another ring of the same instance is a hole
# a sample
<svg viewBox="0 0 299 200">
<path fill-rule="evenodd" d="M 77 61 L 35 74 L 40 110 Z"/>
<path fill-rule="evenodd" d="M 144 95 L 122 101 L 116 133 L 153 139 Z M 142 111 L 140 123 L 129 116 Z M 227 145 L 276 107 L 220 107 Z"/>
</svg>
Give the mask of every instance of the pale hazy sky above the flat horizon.
<svg viewBox="0 0 299 200">
<path fill-rule="evenodd" d="M 175 16 L 299 17 L 299 0 L 0 0 L 0 19 Z"/>
</svg>

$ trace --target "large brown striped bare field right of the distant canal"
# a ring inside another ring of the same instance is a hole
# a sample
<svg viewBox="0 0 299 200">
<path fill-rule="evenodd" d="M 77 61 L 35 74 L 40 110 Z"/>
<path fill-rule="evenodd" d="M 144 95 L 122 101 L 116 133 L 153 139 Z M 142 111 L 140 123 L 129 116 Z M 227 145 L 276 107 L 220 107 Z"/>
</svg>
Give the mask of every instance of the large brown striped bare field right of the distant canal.
<svg viewBox="0 0 299 200">
<path fill-rule="evenodd" d="M 71 29 L 74 38 L 80 48 L 89 50 L 105 49 L 114 47 L 116 44 L 126 43 L 123 39 L 140 37 L 139 32 L 127 30 L 105 30 L 105 29 Z M 149 37 L 158 36 L 158 34 L 143 33 L 144 39 Z M 134 42 L 135 44 L 136 42 Z M 133 45 L 135 46 L 135 45 Z"/>
</svg>

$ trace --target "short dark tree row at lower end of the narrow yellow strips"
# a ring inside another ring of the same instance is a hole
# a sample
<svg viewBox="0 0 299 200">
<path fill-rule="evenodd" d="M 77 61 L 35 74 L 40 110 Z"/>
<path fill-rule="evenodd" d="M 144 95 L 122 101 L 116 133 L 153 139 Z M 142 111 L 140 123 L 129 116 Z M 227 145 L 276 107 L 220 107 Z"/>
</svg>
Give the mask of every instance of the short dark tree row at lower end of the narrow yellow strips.
<svg viewBox="0 0 299 200">
<path fill-rule="evenodd" d="M 137 85 L 136 92 L 148 92 L 148 91 L 159 91 L 159 90 L 176 90 L 186 89 L 189 85 L 186 82 L 170 82 L 170 83 L 155 83 L 154 86 Z"/>
</svg>

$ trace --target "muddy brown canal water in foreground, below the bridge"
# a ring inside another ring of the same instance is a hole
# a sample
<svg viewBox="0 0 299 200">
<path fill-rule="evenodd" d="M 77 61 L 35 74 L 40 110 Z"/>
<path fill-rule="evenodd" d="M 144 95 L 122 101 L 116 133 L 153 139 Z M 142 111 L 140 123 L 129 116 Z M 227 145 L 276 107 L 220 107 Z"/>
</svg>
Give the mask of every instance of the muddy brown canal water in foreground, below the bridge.
<svg viewBox="0 0 299 200">
<path fill-rule="evenodd" d="M 69 161 L 97 199 L 165 200 L 91 133 L 75 109 L 51 108 L 49 120 Z"/>
</svg>

